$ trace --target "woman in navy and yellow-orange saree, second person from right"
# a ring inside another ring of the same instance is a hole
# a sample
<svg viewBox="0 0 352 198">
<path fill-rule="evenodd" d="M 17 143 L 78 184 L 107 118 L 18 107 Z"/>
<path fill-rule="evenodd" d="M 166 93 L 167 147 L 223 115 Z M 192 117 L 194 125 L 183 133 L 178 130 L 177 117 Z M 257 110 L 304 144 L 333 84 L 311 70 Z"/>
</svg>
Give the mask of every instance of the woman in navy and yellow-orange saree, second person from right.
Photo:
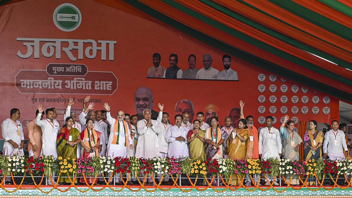
<svg viewBox="0 0 352 198">
<path fill-rule="evenodd" d="M 324 134 L 323 132 L 316 131 L 318 123 L 315 120 L 309 121 L 309 130 L 303 136 L 303 156 L 304 160 L 310 159 L 318 160 L 322 156 L 322 145 Z M 316 172 L 318 179 L 320 173 Z M 307 185 L 315 185 L 315 176 L 308 178 Z"/>
</svg>

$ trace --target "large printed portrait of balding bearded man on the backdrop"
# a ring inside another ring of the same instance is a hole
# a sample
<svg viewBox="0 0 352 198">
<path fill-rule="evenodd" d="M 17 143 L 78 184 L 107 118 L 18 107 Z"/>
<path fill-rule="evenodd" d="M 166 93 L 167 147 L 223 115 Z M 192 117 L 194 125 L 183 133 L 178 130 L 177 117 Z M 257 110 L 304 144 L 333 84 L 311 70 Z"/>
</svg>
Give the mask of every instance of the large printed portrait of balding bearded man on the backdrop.
<svg viewBox="0 0 352 198">
<path fill-rule="evenodd" d="M 134 92 L 134 108 L 137 111 L 138 120 L 144 119 L 143 111 L 145 109 L 151 110 L 151 119 L 156 120 L 158 112 L 152 110 L 154 106 L 153 92 L 148 87 L 139 87 Z"/>
</svg>

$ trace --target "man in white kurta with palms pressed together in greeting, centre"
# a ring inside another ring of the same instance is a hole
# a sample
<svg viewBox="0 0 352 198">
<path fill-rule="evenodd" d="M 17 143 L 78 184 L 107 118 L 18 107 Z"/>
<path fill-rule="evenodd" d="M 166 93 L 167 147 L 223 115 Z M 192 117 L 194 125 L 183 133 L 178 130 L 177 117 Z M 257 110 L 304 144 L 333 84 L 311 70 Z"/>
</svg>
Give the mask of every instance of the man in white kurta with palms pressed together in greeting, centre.
<svg viewBox="0 0 352 198">
<path fill-rule="evenodd" d="M 138 144 L 136 157 L 153 158 L 160 154 L 158 134 L 161 133 L 159 122 L 151 119 L 151 110 L 143 110 L 143 120 L 137 122 Z M 150 177 L 150 175 L 148 176 Z M 153 185 L 153 180 L 148 178 L 146 185 Z"/>
</svg>

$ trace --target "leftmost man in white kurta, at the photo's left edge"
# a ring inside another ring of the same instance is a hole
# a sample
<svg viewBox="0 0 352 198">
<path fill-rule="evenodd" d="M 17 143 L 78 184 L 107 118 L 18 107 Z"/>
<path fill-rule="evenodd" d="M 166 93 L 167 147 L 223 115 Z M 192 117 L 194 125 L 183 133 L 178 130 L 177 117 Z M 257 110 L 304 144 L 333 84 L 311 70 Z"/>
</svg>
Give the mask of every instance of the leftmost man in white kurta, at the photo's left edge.
<svg viewBox="0 0 352 198">
<path fill-rule="evenodd" d="M 24 135 L 23 126 L 18 120 L 21 116 L 20 110 L 13 108 L 10 111 L 10 118 L 1 123 L 2 138 L 4 138 L 4 147 L 2 155 L 17 154 L 23 156 Z M 11 177 L 6 177 L 5 183 L 10 182 Z"/>
</svg>

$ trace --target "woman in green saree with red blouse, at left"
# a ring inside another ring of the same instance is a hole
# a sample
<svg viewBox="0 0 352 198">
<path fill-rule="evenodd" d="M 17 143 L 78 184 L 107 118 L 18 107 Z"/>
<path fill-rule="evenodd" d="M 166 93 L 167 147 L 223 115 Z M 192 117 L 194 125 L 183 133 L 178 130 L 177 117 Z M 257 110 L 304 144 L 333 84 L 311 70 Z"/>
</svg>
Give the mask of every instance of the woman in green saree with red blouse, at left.
<svg viewBox="0 0 352 198">
<path fill-rule="evenodd" d="M 73 128 L 72 125 L 73 118 L 67 117 L 65 125 L 61 128 L 56 137 L 57 155 L 58 157 L 62 157 L 62 159 L 67 159 L 68 157 L 77 159 L 77 144 L 81 143 L 81 137 L 80 131 Z M 72 181 L 73 175 L 70 174 L 69 177 Z M 62 175 L 58 182 L 71 184 L 71 181 L 67 175 Z M 75 183 L 77 183 L 77 180 L 75 180 Z"/>
</svg>

